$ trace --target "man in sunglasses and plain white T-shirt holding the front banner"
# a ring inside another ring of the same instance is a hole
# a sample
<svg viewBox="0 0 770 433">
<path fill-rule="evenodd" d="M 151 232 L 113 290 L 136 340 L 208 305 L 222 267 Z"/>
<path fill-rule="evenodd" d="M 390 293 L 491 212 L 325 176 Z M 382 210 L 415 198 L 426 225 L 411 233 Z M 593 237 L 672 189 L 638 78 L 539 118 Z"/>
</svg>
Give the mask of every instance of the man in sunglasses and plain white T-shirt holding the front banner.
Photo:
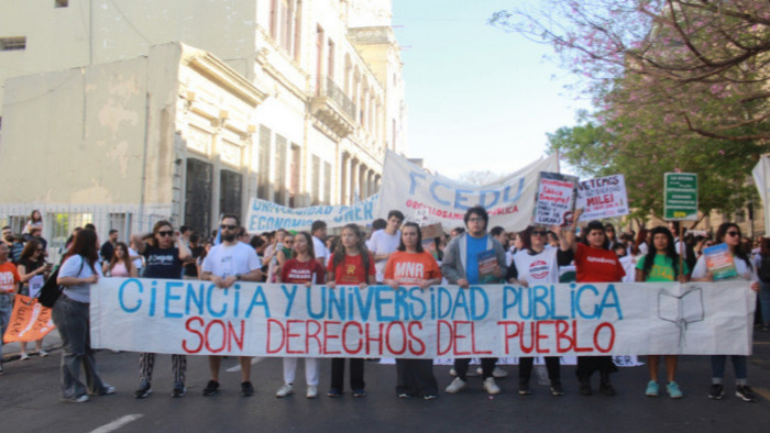
<svg viewBox="0 0 770 433">
<path fill-rule="evenodd" d="M 249 244 L 238 241 L 241 221 L 238 216 L 226 214 L 219 226 L 222 233 L 222 243 L 211 248 L 206 255 L 202 265 L 202 279 L 210 280 L 220 289 L 232 287 L 237 281 L 260 281 L 262 279 L 262 263 L 256 252 Z M 254 386 L 251 384 L 251 356 L 241 356 L 241 395 L 249 397 L 254 395 Z M 209 356 L 209 369 L 211 380 L 204 389 L 204 396 L 219 393 L 219 367 L 222 365 L 221 356 Z"/>
</svg>

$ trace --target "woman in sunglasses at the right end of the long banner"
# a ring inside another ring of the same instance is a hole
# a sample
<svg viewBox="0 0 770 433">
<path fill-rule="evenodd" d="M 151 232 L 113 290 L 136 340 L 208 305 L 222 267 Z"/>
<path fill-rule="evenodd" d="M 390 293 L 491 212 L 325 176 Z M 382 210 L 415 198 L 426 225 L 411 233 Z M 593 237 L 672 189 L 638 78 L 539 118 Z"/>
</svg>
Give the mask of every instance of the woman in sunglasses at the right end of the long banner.
<svg viewBox="0 0 770 433">
<path fill-rule="evenodd" d="M 751 260 L 745 251 L 740 248 L 740 227 L 732 222 L 726 222 L 719 225 L 716 230 L 716 243 L 727 244 L 727 248 L 733 255 L 737 279 L 751 281 L 750 288 L 754 291 L 759 291 L 759 281 L 757 274 L 752 270 Z M 702 255 L 692 273 L 693 281 L 713 281 L 714 274 L 706 266 L 706 255 Z M 748 385 L 748 356 L 730 355 L 733 359 L 733 369 L 735 370 L 735 395 L 748 402 L 759 400 L 757 393 Z M 725 377 L 725 367 L 727 365 L 727 355 L 712 355 L 712 386 L 708 389 L 708 398 L 719 400 L 725 397 L 725 388 L 723 379 Z"/>
</svg>

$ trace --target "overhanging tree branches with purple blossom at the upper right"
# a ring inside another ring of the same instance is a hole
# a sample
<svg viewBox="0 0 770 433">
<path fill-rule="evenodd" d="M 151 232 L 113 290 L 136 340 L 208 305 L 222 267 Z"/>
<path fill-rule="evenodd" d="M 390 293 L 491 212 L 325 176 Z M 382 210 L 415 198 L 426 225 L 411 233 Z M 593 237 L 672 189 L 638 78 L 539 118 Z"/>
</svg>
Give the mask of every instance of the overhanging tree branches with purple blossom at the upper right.
<svg viewBox="0 0 770 433">
<path fill-rule="evenodd" d="M 542 0 L 493 25 L 553 45 L 601 110 L 664 113 L 681 137 L 770 138 L 767 0 Z"/>
</svg>

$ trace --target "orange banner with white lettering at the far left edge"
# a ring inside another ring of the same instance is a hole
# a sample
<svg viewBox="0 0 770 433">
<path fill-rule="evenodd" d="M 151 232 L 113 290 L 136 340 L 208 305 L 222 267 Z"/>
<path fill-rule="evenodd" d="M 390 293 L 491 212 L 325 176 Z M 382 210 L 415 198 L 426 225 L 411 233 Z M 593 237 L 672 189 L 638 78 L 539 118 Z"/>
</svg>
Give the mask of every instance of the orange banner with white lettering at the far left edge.
<svg viewBox="0 0 770 433">
<path fill-rule="evenodd" d="M 16 295 L 11 320 L 2 336 L 4 343 L 34 342 L 54 330 L 51 309 L 41 306 L 37 299 Z"/>
</svg>

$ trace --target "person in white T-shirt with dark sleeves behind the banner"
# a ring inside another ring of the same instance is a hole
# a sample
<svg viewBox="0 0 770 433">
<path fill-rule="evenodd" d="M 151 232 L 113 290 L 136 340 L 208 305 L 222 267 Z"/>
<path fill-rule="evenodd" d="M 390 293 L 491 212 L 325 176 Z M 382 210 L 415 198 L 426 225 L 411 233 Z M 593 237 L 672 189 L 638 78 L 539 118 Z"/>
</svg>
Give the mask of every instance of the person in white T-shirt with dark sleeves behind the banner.
<svg viewBox="0 0 770 433">
<path fill-rule="evenodd" d="M 559 238 L 559 248 L 546 247 L 548 231 L 542 226 L 529 226 L 519 233 L 519 236 L 529 238 L 528 247 L 514 255 L 505 277 L 508 282 L 524 287 L 559 284 L 559 266 L 568 266 L 572 262 L 572 245 L 575 236 L 572 231 L 562 233 L 558 225 L 553 226 L 552 231 Z M 544 358 L 548 379 L 551 382 L 551 395 L 563 396 L 560 357 L 546 356 Z M 519 358 L 519 395 L 521 396 L 532 393 L 529 379 L 532 376 L 534 362 L 535 358 L 531 356 Z"/>
</svg>

